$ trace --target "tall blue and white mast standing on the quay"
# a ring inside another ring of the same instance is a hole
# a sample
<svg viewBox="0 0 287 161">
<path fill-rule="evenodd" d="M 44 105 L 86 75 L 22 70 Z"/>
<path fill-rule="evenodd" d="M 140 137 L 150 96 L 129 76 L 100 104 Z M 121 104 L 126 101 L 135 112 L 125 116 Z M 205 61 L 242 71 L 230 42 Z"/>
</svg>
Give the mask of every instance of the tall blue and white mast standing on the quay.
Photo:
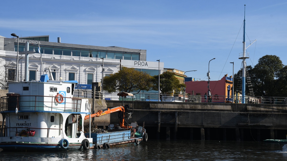
<svg viewBox="0 0 287 161">
<path fill-rule="evenodd" d="M 243 21 L 243 59 L 242 59 L 242 103 L 245 103 L 245 69 L 246 69 L 246 62 L 245 62 L 245 6 L 244 5 L 244 21 Z"/>
</svg>

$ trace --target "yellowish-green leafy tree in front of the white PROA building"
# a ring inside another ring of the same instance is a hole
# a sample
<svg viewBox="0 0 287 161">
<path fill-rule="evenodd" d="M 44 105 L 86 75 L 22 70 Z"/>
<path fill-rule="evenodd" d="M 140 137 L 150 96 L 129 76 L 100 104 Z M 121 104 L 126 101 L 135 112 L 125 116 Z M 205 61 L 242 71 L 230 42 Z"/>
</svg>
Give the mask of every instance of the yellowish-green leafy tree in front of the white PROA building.
<svg viewBox="0 0 287 161">
<path fill-rule="evenodd" d="M 140 72 L 134 68 L 122 67 L 117 73 L 104 77 L 104 90 L 109 93 L 124 91 L 137 92 L 152 89 L 153 77 L 146 72 Z"/>
</svg>

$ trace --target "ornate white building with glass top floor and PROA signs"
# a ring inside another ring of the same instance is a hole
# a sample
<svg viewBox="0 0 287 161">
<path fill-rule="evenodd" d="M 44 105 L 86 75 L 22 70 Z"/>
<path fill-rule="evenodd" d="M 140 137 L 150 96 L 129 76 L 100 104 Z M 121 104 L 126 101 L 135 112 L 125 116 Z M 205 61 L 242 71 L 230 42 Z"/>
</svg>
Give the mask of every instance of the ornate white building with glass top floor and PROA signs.
<svg viewBox="0 0 287 161">
<path fill-rule="evenodd" d="M 29 51 L 36 51 L 28 55 L 29 81 L 40 80 L 42 74 L 49 74 L 50 68 L 55 80 L 77 80 L 80 86 L 91 89 L 92 82 L 101 82 L 102 74 L 115 73 L 120 66 L 136 68 L 151 75 L 158 75 L 158 70 L 162 73 L 164 68 L 163 62 L 147 62 L 146 50 L 65 44 L 60 42 L 60 38 L 58 42 L 49 42 L 49 36 L 32 36 L 19 38 L 19 52 L 24 51 L 26 42 L 29 42 Z M 17 38 L 0 36 L 2 89 L 5 89 L 7 80 L 15 80 L 17 44 Z M 18 81 L 24 81 L 25 55 L 18 56 Z"/>
</svg>

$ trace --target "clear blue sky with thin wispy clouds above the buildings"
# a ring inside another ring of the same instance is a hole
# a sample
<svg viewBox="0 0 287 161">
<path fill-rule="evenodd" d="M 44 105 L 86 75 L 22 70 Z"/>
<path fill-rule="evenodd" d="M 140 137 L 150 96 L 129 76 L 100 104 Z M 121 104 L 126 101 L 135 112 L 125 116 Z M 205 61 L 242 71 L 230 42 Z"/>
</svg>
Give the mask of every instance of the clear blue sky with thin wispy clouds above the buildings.
<svg viewBox="0 0 287 161">
<path fill-rule="evenodd" d="M 195 80 L 241 68 L 244 5 L 247 65 L 277 55 L 287 65 L 287 1 L 2 1 L 0 35 L 49 35 L 50 42 L 147 50 L 147 61 Z"/>
</svg>

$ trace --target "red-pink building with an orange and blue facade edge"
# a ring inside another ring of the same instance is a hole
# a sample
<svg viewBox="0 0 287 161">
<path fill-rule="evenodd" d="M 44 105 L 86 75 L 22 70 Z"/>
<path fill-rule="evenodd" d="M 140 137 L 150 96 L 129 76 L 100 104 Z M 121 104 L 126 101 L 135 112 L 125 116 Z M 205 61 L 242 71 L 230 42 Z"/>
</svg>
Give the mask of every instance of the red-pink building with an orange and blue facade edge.
<svg viewBox="0 0 287 161">
<path fill-rule="evenodd" d="M 205 101 L 204 94 L 208 93 L 208 81 L 188 81 L 185 79 L 185 85 L 185 93 L 189 95 L 200 95 L 201 102 Z M 209 88 L 212 94 L 212 102 L 229 102 L 230 96 L 232 96 L 232 86 L 233 78 L 232 76 L 228 77 L 227 74 L 218 81 L 210 81 Z"/>
</svg>

